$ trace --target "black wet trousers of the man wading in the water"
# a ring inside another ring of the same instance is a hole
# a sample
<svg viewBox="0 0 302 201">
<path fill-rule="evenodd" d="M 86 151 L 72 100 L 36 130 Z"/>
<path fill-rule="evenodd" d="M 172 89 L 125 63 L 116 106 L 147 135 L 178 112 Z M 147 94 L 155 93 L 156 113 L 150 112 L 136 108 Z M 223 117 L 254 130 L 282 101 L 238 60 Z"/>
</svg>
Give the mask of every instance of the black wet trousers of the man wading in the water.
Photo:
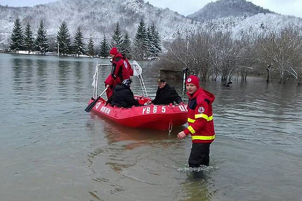
<svg viewBox="0 0 302 201">
<path fill-rule="evenodd" d="M 189 167 L 199 167 L 200 165 L 209 165 L 210 162 L 210 144 L 192 143 L 192 149 L 189 157 Z"/>
</svg>

